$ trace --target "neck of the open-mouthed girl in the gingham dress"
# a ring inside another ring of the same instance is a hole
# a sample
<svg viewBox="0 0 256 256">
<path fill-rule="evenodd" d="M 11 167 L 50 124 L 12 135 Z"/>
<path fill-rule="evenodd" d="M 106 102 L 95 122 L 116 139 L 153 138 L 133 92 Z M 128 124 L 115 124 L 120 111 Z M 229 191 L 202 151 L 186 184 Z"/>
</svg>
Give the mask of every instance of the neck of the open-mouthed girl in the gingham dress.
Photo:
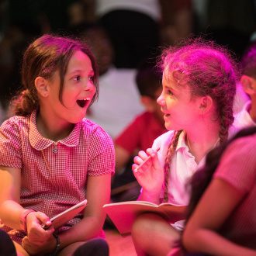
<svg viewBox="0 0 256 256">
<path fill-rule="evenodd" d="M 59 119 L 54 119 L 52 116 L 48 116 L 45 112 L 38 113 L 36 126 L 43 137 L 53 141 L 64 139 L 64 137 L 67 137 L 74 128 L 73 123 L 61 123 Z"/>
</svg>

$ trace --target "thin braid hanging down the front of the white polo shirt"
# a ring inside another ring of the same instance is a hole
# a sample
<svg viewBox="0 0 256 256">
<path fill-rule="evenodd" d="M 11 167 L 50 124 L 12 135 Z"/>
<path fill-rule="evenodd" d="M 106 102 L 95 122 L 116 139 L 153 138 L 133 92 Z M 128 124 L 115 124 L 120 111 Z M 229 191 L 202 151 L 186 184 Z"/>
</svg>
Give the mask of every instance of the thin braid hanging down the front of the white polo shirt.
<svg viewBox="0 0 256 256">
<path fill-rule="evenodd" d="M 171 142 L 169 144 L 167 154 L 164 162 L 164 199 L 163 202 L 168 202 L 168 183 L 169 183 L 169 175 L 171 169 L 171 159 L 175 154 L 175 150 L 178 144 L 178 137 L 182 133 L 182 130 L 176 130 Z"/>
</svg>

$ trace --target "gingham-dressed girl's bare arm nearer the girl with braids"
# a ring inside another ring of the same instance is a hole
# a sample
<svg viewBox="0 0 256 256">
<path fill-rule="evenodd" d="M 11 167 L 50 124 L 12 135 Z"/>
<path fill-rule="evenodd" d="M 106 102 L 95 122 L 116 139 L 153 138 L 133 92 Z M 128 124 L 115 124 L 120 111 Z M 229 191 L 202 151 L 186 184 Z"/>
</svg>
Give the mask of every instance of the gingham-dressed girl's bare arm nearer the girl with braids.
<svg viewBox="0 0 256 256">
<path fill-rule="evenodd" d="M 84 218 L 78 224 L 60 235 L 61 248 L 78 241 L 97 237 L 106 217 L 102 206 L 109 202 L 111 175 L 88 176 Z"/>
</svg>

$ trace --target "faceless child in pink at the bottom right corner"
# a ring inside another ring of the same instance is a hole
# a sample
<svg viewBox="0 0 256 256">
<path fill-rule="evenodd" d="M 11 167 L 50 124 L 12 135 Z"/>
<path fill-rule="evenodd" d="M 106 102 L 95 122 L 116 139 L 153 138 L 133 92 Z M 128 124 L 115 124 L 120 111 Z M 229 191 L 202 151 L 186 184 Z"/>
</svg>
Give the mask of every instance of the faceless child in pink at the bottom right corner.
<svg viewBox="0 0 256 256">
<path fill-rule="evenodd" d="M 256 255 L 255 147 L 256 127 L 251 126 L 211 151 L 206 166 L 192 177 L 192 197 L 182 235 L 187 251 Z"/>
</svg>

